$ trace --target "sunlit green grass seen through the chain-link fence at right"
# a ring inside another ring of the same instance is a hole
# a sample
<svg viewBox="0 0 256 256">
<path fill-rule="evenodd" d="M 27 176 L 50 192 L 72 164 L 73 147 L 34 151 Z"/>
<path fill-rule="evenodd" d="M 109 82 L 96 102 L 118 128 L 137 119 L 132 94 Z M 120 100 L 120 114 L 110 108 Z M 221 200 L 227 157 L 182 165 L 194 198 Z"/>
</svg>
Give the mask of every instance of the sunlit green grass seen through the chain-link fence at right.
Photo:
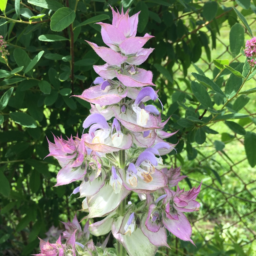
<svg viewBox="0 0 256 256">
<path fill-rule="evenodd" d="M 255 28 L 256 20 L 248 21 L 251 21 L 250 27 Z M 228 25 L 220 29 L 220 35 L 216 38 L 217 47 L 211 52 L 212 60 L 231 60 L 229 31 Z M 246 32 L 245 40 L 248 39 L 251 36 Z M 245 57 L 240 54 L 233 61 L 244 60 Z M 196 65 L 212 78 L 215 66 L 213 61 L 207 60 L 204 53 Z M 174 79 L 182 77 L 181 70 L 181 66 L 177 64 L 173 71 Z M 187 77 L 195 80 L 190 75 L 191 72 L 193 71 L 188 69 Z M 255 78 L 251 79 L 249 88 L 255 87 L 255 81 Z M 254 94 L 249 94 L 248 97 L 250 101 L 241 112 L 252 119 L 241 119 L 238 122 L 246 131 L 255 132 L 256 100 Z M 188 244 L 185 247 L 180 240 L 176 240 L 175 244 L 175 238 L 172 238 L 174 252 L 171 255 L 256 255 L 256 170 L 247 161 L 244 136 L 232 132 L 223 122 L 214 123 L 210 127 L 219 134 L 208 134 L 203 145 L 194 143 L 193 146 L 200 153 L 192 161 L 185 160 L 187 163 L 182 166 L 183 174 L 189 176 L 193 186 L 199 185 L 203 180 L 198 196 L 200 211 L 187 214 L 193 229 L 192 239 L 197 248 L 188 247 Z M 222 149 L 217 150 L 216 145 L 222 145 Z M 186 159 L 184 151 L 182 156 Z M 172 161 L 175 161 L 175 156 Z M 177 166 L 179 164 L 177 161 Z M 185 181 L 182 185 L 188 188 Z M 182 246 L 184 249 L 180 249 Z"/>
</svg>

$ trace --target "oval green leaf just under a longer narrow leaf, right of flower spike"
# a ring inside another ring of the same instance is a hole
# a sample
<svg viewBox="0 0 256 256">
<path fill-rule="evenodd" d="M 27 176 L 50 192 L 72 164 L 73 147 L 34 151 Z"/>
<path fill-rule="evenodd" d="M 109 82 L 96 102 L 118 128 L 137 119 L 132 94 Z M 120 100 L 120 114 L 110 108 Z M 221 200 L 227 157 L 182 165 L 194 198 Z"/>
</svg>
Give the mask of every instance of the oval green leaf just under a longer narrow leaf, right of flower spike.
<svg viewBox="0 0 256 256">
<path fill-rule="evenodd" d="M 196 99 L 202 104 L 204 108 L 212 108 L 212 100 L 202 84 L 198 84 L 195 81 L 192 81 L 191 90 Z"/>
</svg>

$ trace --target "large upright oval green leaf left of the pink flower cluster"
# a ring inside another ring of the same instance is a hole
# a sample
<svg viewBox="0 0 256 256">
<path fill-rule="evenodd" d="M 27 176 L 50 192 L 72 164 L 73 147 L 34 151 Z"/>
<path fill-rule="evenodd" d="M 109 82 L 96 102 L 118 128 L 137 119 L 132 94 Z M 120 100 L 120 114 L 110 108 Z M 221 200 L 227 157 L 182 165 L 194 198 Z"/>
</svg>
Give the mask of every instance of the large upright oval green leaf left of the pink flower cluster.
<svg viewBox="0 0 256 256">
<path fill-rule="evenodd" d="M 233 58 L 240 53 L 242 46 L 244 46 L 244 28 L 241 24 L 236 23 L 229 33 L 229 47 Z"/>
</svg>

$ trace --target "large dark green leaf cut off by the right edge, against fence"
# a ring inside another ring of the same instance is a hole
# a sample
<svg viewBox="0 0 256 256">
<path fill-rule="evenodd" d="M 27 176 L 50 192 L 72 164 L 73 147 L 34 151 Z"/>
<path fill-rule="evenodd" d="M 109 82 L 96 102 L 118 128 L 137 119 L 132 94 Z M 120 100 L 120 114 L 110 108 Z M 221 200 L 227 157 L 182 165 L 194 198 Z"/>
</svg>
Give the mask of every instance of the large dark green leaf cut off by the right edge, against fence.
<svg viewBox="0 0 256 256">
<path fill-rule="evenodd" d="M 256 133 L 246 132 L 244 136 L 244 148 L 249 164 L 254 167 L 256 164 Z"/>
</svg>

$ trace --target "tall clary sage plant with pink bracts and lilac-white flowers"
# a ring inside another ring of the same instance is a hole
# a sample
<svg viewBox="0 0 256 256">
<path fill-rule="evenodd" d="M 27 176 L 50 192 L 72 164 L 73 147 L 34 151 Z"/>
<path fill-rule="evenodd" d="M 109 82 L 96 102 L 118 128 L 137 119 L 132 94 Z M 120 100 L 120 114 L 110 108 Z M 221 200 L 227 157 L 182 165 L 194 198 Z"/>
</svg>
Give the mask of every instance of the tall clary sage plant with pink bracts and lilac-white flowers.
<svg viewBox="0 0 256 256">
<path fill-rule="evenodd" d="M 184 212 L 199 210 L 201 184 L 189 191 L 180 189 L 178 182 L 187 176 L 163 163 L 162 156 L 175 147 L 164 139 L 176 132 L 163 130 L 168 119 L 162 122 L 159 110 L 150 104 L 158 100 L 152 72 L 137 67 L 154 50 L 142 48 L 153 36 L 136 36 L 139 13 L 129 17 L 128 11 L 111 9 L 112 25 L 98 23 L 108 47 L 87 42 L 106 64 L 93 67 L 99 75 L 94 86 L 76 95 L 91 103 L 91 114 L 83 122 L 89 131 L 81 138 L 54 136 L 48 156 L 62 167 L 56 186 L 81 182 L 73 194 L 85 197 L 85 218 L 105 217 L 89 225 L 92 235 L 112 231 L 118 240 L 116 255 L 150 256 L 158 246 L 169 247 L 167 233 L 194 244 Z M 132 191 L 141 199 L 137 205 L 126 202 Z M 96 248 L 87 228 L 82 231 L 76 218 L 72 223 L 64 224 L 66 244 L 61 237 L 55 244 L 41 240 L 36 255 L 110 255 L 105 254 L 106 243 Z"/>
</svg>

